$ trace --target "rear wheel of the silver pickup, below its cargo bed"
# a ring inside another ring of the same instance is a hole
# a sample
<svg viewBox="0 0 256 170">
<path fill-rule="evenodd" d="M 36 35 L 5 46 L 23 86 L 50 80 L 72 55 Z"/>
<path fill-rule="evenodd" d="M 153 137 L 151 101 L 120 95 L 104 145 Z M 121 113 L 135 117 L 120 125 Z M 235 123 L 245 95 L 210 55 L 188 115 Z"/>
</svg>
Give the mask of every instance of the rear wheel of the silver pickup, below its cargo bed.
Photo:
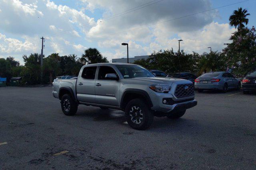
<svg viewBox="0 0 256 170">
<path fill-rule="evenodd" d="M 77 111 L 77 104 L 69 94 L 64 94 L 61 98 L 61 109 L 65 115 L 74 115 Z"/>
</svg>

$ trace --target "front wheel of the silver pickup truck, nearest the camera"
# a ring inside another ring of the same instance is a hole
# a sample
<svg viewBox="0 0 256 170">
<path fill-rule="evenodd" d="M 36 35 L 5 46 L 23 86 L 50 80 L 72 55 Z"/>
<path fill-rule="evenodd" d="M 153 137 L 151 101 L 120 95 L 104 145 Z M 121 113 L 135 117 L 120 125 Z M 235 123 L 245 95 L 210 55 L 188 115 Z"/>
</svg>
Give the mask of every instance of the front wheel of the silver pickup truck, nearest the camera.
<svg viewBox="0 0 256 170">
<path fill-rule="evenodd" d="M 154 115 L 148 105 L 141 99 L 133 99 L 126 105 L 125 116 L 133 129 L 144 130 L 150 127 Z"/>
</svg>

